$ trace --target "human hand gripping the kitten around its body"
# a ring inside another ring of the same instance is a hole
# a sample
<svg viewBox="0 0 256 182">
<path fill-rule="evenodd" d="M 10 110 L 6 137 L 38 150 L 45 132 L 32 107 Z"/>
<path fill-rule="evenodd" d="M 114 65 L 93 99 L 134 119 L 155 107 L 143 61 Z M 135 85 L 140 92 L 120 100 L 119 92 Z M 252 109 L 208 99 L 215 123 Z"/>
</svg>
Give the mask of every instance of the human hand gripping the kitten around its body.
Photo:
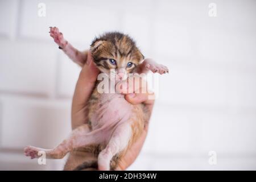
<svg viewBox="0 0 256 182">
<path fill-rule="evenodd" d="M 79 127 L 83 125 L 84 123 L 88 122 L 87 119 L 87 110 L 86 110 L 86 102 L 88 101 L 90 94 L 93 91 L 94 84 L 97 80 L 98 76 L 98 69 L 95 67 L 92 57 L 90 53 L 88 53 L 86 63 L 84 67 L 82 67 L 82 70 L 79 75 L 79 80 L 76 84 L 75 93 L 73 95 L 73 101 L 72 101 L 72 129 L 75 129 L 76 127 Z M 139 81 L 138 79 L 135 79 L 135 81 Z M 128 85 L 129 86 L 129 85 Z M 124 87 L 123 87 L 124 88 Z M 140 85 L 140 89 L 143 88 L 142 85 Z M 134 90 L 135 91 L 135 90 Z M 154 100 L 148 100 L 148 93 L 130 93 L 125 94 L 125 99 L 130 102 L 131 104 L 140 104 L 143 103 L 147 108 L 148 111 L 152 112 L 152 107 L 154 105 Z M 143 146 L 144 140 L 146 139 L 148 130 L 148 122 L 146 123 L 144 127 L 144 131 L 141 134 L 141 137 L 139 140 L 131 146 L 130 150 L 127 151 L 126 155 L 123 156 L 123 158 L 119 162 L 119 166 L 117 169 L 119 170 L 125 170 L 127 167 L 129 167 L 134 160 L 139 155 L 139 152 L 141 151 L 141 148 Z M 77 162 L 72 162 L 71 160 L 80 159 L 80 156 L 76 153 L 71 154 L 70 160 L 68 160 L 65 168 L 68 168 L 67 166 L 75 166 L 75 165 L 69 165 L 69 163 L 77 163 L 79 165 L 81 163 L 81 160 L 77 160 Z M 83 160 L 86 160 L 86 156 Z M 89 157 L 88 157 L 89 158 Z M 78 163 L 80 162 L 80 163 Z"/>
</svg>

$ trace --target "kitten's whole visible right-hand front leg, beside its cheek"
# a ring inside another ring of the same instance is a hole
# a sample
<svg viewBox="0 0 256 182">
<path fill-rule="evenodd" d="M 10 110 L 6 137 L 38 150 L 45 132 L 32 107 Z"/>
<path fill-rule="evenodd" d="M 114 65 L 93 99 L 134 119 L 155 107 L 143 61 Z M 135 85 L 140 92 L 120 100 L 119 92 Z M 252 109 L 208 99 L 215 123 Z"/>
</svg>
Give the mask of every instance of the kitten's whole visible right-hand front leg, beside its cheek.
<svg viewBox="0 0 256 182">
<path fill-rule="evenodd" d="M 156 63 L 152 59 L 145 59 L 138 67 L 138 73 L 147 73 L 148 71 L 152 71 L 153 73 L 168 73 L 169 70 L 166 66 L 162 64 Z"/>
</svg>

